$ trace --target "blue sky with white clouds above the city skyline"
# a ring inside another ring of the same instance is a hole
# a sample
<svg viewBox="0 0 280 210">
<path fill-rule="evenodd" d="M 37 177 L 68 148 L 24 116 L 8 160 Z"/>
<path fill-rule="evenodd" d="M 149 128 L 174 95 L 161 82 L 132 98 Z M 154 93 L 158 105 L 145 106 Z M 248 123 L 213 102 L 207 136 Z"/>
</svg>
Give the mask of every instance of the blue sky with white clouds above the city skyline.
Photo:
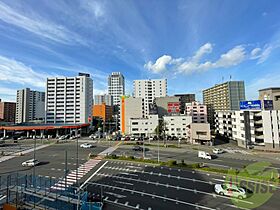
<svg viewBox="0 0 280 210">
<path fill-rule="evenodd" d="M 120 71 L 167 78 L 168 94 L 244 80 L 247 99 L 280 86 L 280 2 L 275 0 L 2 0 L 0 98 L 45 89 L 51 76 L 89 72 L 94 93 Z"/>
</svg>

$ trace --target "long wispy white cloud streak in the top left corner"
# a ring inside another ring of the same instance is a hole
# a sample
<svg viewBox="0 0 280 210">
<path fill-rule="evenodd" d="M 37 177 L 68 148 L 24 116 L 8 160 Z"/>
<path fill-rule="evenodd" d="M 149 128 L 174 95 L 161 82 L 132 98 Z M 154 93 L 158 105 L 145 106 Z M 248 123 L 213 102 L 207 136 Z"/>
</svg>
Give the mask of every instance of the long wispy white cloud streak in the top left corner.
<svg viewBox="0 0 280 210">
<path fill-rule="evenodd" d="M 77 34 L 69 31 L 61 25 L 56 25 L 40 16 L 27 16 L 21 11 L 15 10 L 4 3 L 0 3 L 0 20 L 32 32 L 41 38 L 73 45 L 75 43 L 84 44 L 86 42 Z"/>
</svg>

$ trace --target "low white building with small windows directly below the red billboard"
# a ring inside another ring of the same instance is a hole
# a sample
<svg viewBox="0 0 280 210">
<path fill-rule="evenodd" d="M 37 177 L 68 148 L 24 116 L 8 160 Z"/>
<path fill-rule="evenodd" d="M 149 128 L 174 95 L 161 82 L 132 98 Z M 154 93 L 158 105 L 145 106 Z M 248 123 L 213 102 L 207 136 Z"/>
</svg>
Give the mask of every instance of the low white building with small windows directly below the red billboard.
<svg viewBox="0 0 280 210">
<path fill-rule="evenodd" d="M 192 117 L 186 115 L 163 116 L 165 135 L 187 139 L 187 127 L 192 123 Z"/>
</svg>

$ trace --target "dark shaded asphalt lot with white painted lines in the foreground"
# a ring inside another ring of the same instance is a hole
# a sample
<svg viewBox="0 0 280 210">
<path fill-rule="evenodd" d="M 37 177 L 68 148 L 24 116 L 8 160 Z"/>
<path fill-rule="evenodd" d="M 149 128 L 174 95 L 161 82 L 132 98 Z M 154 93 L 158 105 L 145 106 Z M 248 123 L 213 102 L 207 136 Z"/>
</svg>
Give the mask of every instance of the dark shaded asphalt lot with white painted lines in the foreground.
<svg viewBox="0 0 280 210">
<path fill-rule="evenodd" d="M 104 197 L 107 210 L 238 209 L 231 198 L 214 193 L 223 176 L 168 167 L 108 161 L 88 182 L 87 190 Z M 279 190 L 258 209 L 278 209 Z M 238 202 L 254 203 L 245 200 Z"/>
</svg>

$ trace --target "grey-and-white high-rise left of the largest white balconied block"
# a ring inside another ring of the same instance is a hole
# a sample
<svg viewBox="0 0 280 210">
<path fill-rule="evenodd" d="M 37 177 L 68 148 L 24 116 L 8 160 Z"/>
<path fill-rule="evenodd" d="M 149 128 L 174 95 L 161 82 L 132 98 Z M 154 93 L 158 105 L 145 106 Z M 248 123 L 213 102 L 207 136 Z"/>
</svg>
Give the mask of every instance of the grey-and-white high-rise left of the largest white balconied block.
<svg viewBox="0 0 280 210">
<path fill-rule="evenodd" d="M 16 123 L 45 119 L 45 92 L 25 88 L 17 91 Z"/>
</svg>

